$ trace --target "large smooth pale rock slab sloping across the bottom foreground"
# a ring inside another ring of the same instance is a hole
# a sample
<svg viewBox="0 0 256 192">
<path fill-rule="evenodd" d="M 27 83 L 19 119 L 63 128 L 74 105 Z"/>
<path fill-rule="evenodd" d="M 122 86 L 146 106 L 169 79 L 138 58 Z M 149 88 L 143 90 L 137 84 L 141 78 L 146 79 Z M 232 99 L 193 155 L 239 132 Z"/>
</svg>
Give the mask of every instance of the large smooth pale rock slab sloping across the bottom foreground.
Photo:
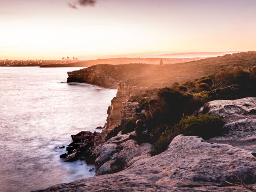
<svg viewBox="0 0 256 192">
<path fill-rule="evenodd" d="M 238 192 L 247 190 L 229 186 L 225 181 L 236 181 L 236 174 L 254 181 L 255 172 L 256 157 L 250 151 L 180 135 L 162 154 L 137 158 L 121 172 L 60 184 L 44 191 Z"/>
</svg>

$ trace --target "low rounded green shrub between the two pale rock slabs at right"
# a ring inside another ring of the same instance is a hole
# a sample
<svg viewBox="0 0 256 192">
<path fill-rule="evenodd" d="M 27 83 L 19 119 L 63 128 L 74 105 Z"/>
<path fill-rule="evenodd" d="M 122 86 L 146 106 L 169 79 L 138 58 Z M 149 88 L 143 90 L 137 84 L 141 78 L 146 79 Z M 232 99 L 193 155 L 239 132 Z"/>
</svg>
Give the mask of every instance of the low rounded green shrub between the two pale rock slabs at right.
<svg viewBox="0 0 256 192">
<path fill-rule="evenodd" d="M 219 116 L 198 114 L 183 117 L 177 124 L 185 136 L 198 136 L 204 139 L 221 135 L 224 121 Z"/>
</svg>

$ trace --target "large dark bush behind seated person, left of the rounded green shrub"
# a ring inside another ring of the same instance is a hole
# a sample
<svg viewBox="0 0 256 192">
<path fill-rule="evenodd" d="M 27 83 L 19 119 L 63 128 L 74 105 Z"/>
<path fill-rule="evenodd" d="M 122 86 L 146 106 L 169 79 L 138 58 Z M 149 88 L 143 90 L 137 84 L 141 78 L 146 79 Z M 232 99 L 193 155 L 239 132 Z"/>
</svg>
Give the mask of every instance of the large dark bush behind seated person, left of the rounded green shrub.
<svg viewBox="0 0 256 192">
<path fill-rule="evenodd" d="M 146 110 L 146 124 L 153 143 L 165 131 L 179 122 L 184 115 L 191 115 L 204 105 L 205 99 L 193 96 L 190 93 L 181 93 L 169 87 L 158 91 L 155 102 L 148 104 Z"/>
</svg>

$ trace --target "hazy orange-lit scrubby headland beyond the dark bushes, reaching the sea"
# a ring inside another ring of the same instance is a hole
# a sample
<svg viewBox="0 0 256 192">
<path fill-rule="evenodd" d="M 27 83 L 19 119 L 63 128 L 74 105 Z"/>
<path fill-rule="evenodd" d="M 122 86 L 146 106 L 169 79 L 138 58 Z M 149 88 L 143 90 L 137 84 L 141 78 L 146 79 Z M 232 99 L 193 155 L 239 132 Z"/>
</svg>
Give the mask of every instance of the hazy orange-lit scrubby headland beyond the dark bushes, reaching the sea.
<svg viewBox="0 0 256 192">
<path fill-rule="evenodd" d="M 87 82 L 83 80 L 88 79 L 88 72 L 91 72 L 96 76 L 93 78 L 100 78 L 101 82 L 104 79 L 105 81 L 109 80 L 111 83 L 107 87 L 115 87 L 115 83 L 119 81 L 128 82 L 134 86 L 164 87 L 171 86 L 174 82 L 183 83 L 211 75 L 228 66 L 241 66 L 245 70 L 256 66 L 256 52 L 241 52 L 198 61 L 164 64 L 163 66 L 151 64 L 95 65 L 72 72 L 69 76 L 71 77 L 73 74 L 74 81 L 79 79 L 79 82 Z M 72 77 L 70 81 L 73 81 Z"/>
</svg>

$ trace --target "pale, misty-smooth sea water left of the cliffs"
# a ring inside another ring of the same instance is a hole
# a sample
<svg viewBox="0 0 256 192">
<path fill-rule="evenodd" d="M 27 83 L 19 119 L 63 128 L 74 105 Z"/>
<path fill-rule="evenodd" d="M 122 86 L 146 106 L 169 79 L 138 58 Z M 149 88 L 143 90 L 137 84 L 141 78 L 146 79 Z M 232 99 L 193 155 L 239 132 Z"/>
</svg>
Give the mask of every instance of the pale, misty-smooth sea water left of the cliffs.
<svg viewBox="0 0 256 192">
<path fill-rule="evenodd" d="M 92 177 L 93 165 L 63 162 L 71 134 L 95 131 L 116 90 L 67 84 L 81 68 L 0 67 L 0 191 L 31 191 Z"/>
</svg>

